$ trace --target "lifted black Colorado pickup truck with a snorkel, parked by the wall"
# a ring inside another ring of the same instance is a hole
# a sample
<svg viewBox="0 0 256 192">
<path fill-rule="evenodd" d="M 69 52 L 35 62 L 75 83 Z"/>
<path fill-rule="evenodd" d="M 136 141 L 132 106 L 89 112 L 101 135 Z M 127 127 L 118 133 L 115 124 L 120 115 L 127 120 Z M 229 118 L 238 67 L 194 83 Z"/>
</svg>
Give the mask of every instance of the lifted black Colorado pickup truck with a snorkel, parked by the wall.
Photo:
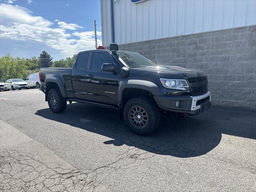
<svg viewBox="0 0 256 192">
<path fill-rule="evenodd" d="M 115 108 L 141 135 L 158 128 L 160 114 L 197 115 L 211 105 L 204 72 L 159 66 L 117 44 L 78 53 L 72 68 L 41 68 L 40 81 L 52 112 L 63 112 L 67 101 Z"/>
</svg>

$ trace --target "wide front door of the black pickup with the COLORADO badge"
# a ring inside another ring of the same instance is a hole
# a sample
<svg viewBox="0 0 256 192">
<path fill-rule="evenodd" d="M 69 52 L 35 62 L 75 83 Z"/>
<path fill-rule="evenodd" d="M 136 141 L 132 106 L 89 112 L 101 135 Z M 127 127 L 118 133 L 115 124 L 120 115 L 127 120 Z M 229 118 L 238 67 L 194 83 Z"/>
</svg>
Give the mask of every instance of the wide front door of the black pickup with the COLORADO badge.
<svg viewBox="0 0 256 192">
<path fill-rule="evenodd" d="M 97 102 L 118 104 L 119 75 L 101 70 L 103 63 L 112 63 L 119 68 L 111 54 L 106 51 L 93 51 L 86 70 L 87 99 Z"/>
</svg>

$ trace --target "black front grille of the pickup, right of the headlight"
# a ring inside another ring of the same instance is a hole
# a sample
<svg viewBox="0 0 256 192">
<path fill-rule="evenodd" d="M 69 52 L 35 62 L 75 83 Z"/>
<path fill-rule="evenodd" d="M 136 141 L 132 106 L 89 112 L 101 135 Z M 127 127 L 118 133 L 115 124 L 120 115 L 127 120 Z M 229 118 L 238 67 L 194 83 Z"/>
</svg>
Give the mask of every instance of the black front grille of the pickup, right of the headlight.
<svg viewBox="0 0 256 192">
<path fill-rule="evenodd" d="M 207 77 L 195 77 L 188 79 L 192 95 L 202 95 L 208 91 Z"/>
</svg>

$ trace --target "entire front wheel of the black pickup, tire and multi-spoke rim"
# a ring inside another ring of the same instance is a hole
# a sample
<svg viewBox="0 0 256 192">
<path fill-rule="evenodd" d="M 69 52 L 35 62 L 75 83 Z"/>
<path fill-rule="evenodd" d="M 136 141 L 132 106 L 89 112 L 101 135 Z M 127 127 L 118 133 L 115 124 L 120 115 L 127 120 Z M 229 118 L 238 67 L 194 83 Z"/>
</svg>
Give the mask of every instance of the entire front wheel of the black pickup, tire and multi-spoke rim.
<svg viewBox="0 0 256 192">
<path fill-rule="evenodd" d="M 132 132 L 148 135 L 160 125 L 160 111 L 153 100 L 136 97 L 124 106 L 124 121 Z"/>
</svg>

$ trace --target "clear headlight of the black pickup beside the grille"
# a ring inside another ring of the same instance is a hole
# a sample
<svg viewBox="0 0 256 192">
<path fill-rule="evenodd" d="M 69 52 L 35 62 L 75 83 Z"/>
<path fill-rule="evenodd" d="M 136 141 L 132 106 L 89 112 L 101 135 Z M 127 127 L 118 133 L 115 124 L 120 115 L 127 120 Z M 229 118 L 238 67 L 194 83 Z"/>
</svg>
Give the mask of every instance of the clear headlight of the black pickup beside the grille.
<svg viewBox="0 0 256 192">
<path fill-rule="evenodd" d="M 162 85 L 166 88 L 189 91 L 189 86 L 184 79 L 160 79 Z"/>
</svg>

